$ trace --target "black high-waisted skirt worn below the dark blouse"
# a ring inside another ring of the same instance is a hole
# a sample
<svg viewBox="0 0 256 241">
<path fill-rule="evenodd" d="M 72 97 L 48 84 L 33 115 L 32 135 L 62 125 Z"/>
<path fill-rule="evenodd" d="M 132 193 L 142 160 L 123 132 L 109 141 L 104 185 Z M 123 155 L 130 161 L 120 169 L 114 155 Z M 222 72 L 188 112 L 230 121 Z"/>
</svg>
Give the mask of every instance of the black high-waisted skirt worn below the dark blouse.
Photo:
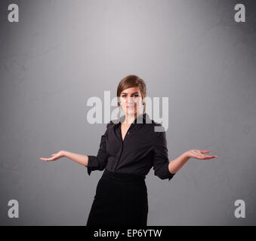
<svg viewBox="0 0 256 241">
<path fill-rule="evenodd" d="M 145 177 L 104 170 L 88 216 L 87 226 L 147 226 Z"/>
</svg>

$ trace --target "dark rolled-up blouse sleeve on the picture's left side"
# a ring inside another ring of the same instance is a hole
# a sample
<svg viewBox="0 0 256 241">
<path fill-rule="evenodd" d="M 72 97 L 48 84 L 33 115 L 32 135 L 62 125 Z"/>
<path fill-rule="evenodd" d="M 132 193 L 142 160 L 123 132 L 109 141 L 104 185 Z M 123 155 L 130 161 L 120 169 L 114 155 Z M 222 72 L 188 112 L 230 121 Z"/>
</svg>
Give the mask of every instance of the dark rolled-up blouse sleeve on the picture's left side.
<svg viewBox="0 0 256 241">
<path fill-rule="evenodd" d="M 110 125 L 109 123 L 106 125 L 106 131 L 101 136 L 100 148 L 97 152 L 97 156 L 88 155 L 88 166 L 87 166 L 88 175 L 90 175 L 91 171 L 94 171 L 94 170 L 102 171 L 106 166 L 107 157 L 108 157 L 108 154 L 106 152 L 106 141 L 107 141 L 107 133 L 108 133 L 109 125 Z"/>
</svg>

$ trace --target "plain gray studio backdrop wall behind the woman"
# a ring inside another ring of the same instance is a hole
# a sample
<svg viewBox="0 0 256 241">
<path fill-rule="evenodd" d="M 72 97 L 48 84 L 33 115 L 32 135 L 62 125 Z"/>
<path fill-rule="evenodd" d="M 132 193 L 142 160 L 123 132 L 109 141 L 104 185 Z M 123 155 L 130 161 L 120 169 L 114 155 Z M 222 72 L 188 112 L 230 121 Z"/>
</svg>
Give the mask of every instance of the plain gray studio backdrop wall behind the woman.
<svg viewBox="0 0 256 241">
<path fill-rule="evenodd" d="M 256 8 L 253 1 L 1 1 L 0 222 L 85 225 L 97 182 L 60 150 L 97 154 L 106 124 L 89 124 L 88 98 L 116 96 L 138 75 L 168 96 L 169 159 L 192 148 L 171 179 L 147 175 L 148 225 L 255 225 Z M 246 8 L 245 23 L 234 6 Z M 8 217 L 9 200 L 19 218 Z M 236 200 L 245 218 L 236 218 Z"/>
</svg>

